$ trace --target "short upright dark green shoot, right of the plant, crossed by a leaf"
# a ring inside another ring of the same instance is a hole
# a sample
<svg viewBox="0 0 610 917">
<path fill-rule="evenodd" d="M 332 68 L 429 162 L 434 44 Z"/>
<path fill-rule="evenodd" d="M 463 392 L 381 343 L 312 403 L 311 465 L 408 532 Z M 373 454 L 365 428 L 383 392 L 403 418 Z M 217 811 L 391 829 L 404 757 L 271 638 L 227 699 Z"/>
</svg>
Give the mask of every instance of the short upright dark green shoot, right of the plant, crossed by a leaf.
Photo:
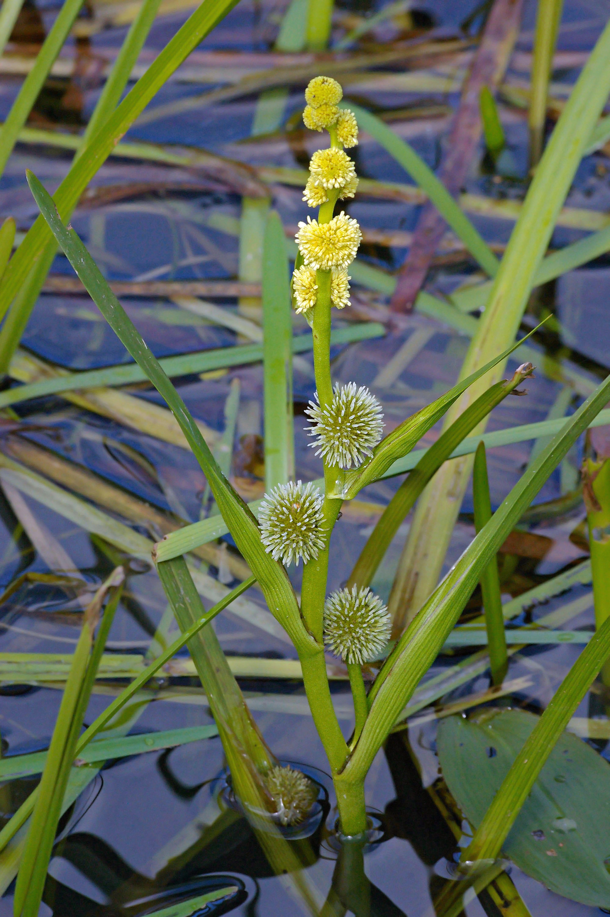
<svg viewBox="0 0 610 917">
<path fill-rule="evenodd" d="M 485 446 L 482 442 L 479 443 L 474 456 L 472 485 L 474 528 L 478 535 L 483 525 L 487 525 L 492 518 L 487 461 L 485 459 Z M 500 685 L 504 681 L 506 669 L 508 668 L 508 655 L 506 652 L 505 618 L 502 611 L 502 593 L 500 591 L 500 577 L 498 576 L 498 561 L 496 557 L 492 558 L 482 571 L 479 581 L 485 610 L 485 627 L 487 628 L 492 680 L 494 685 Z"/>
</svg>

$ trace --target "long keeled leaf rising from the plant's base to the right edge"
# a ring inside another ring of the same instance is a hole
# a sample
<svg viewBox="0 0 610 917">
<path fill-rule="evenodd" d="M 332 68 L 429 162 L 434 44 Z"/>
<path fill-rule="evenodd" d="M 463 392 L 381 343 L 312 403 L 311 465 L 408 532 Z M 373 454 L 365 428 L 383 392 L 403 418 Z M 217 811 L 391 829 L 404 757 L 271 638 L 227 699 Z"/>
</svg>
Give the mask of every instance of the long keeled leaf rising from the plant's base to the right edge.
<svg viewBox="0 0 610 917">
<path fill-rule="evenodd" d="M 367 772 L 401 707 L 408 701 L 417 682 L 449 636 L 482 570 L 547 481 L 550 472 L 557 467 L 609 397 L 610 378 L 566 422 L 416 615 L 372 686 L 371 712 L 360 743 L 345 768 L 344 779 L 350 779 L 352 770 L 359 776 Z"/>
</svg>

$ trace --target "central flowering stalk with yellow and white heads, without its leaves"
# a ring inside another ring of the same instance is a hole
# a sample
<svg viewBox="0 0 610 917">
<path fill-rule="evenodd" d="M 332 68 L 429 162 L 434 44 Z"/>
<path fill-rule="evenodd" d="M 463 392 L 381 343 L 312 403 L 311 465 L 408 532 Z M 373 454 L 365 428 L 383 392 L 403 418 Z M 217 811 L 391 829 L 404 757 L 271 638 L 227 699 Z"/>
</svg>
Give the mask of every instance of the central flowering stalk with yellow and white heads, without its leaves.
<svg viewBox="0 0 610 917">
<path fill-rule="evenodd" d="M 305 493 L 300 482 L 283 488 L 283 506 L 286 499 L 291 503 L 295 525 L 298 517 L 298 531 L 292 535 L 277 499 L 273 506 L 268 502 L 263 504 L 263 542 L 266 520 L 283 519 L 279 526 L 282 532 L 277 532 L 277 547 L 267 547 L 268 550 L 280 550 L 281 545 L 287 556 L 287 546 L 304 543 L 303 549 L 299 548 L 304 560 L 301 613 L 319 651 L 302 659 L 303 677 L 312 715 L 336 780 L 349 759 L 350 748 L 358 741 L 368 713 L 361 664 L 382 650 L 389 636 L 387 610 L 370 590 L 338 591 L 325 604 L 328 547 L 341 506 L 340 500 L 327 494 L 340 491 L 344 471 L 358 468 L 369 458 L 382 436 L 381 406 L 370 392 L 363 387 L 357 389 L 353 382 L 333 389 L 330 373 L 331 310 L 333 306 L 342 309 L 349 305 L 348 267 L 361 238 L 356 220 L 344 212 L 335 215 L 338 201 L 353 197 L 358 184 L 354 163 L 344 150 L 358 142 L 358 127 L 351 112 L 339 111 L 341 96 L 339 84 L 323 76 L 312 80 L 305 91 L 305 126 L 318 131 L 327 129 L 330 146 L 318 149 L 311 159 L 304 200 L 309 206 L 317 207 L 318 213 L 317 219 L 307 217 L 306 223 L 299 224 L 296 236 L 299 256 L 293 276 L 294 307 L 305 314 L 312 328 L 316 402 L 310 403 L 307 414 L 311 421 L 309 435 L 314 439 L 311 445 L 324 462 L 325 494 L 319 495 L 316 513 L 312 510 L 305 520 L 303 507 L 307 501 L 311 503 L 313 494 Z M 315 533 L 311 530 L 314 517 Z M 324 643 L 348 665 L 356 713 L 349 747 L 340 733 L 331 703 Z M 338 790 L 338 807 L 344 834 L 360 834 L 365 830 L 362 781 L 358 786 Z"/>
</svg>

